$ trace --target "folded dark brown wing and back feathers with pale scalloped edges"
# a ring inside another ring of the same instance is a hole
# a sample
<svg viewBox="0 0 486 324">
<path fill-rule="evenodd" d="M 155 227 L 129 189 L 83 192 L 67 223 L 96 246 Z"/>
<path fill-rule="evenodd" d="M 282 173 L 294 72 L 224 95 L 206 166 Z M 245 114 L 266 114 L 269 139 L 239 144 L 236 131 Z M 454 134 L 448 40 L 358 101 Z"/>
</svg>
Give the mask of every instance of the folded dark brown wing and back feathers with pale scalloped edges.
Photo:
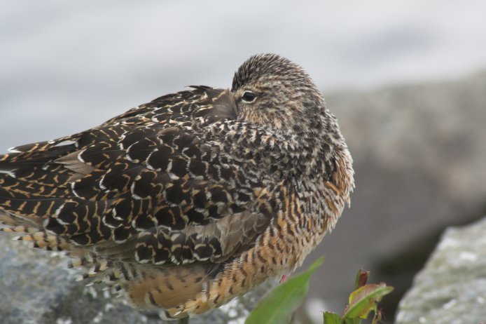
<svg viewBox="0 0 486 324">
<path fill-rule="evenodd" d="M 8 227 L 19 217 L 110 259 L 223 262 L 270 222 L 245 180 L 256 166 L 233 161 L 208 133 L 235 118 L 228 90 L 198 86 L 17 147 L 0 156 L 0 214 Z"/>
</svg>

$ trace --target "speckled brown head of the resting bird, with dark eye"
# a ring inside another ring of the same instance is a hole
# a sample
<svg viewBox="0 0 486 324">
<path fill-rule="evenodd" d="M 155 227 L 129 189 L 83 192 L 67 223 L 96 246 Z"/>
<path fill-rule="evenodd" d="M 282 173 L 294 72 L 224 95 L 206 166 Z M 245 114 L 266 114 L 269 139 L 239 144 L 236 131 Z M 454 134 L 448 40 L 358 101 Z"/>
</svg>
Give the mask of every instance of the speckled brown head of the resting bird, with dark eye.
<svg viewBox="0 0 486 324">
<path fill-rule="evenodd" d="M 240 121 L 284 133 L 313 132 L 327 114 L 310 76 L 275 54 L 254 55 L 244 62 L 235 72 L 231 93 Z"/>
</svg>

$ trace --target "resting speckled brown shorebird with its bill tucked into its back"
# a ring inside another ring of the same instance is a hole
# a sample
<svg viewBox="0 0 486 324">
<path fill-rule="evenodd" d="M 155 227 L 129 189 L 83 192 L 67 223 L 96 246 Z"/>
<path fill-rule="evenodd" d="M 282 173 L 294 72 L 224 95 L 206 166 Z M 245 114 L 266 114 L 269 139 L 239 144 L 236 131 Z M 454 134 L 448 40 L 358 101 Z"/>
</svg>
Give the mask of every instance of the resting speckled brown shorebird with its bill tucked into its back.
<svg viewBox="0 0 486 324">
<path fill-rule="evenodd" d="M 190 86 L 0 155 L 1 230 L 161 318 L 286 278 L 353 190 L 337 119 L 276 54 L 247 59 L 231 88 Z"/>
</svg>

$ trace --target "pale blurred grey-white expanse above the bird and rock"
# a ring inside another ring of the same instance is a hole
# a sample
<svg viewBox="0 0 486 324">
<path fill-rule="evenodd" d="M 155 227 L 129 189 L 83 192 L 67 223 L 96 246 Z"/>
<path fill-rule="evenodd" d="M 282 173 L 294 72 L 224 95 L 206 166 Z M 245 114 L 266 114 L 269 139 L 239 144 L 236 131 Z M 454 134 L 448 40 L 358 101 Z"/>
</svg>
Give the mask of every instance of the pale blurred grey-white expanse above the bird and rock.
<svg viewBox="0 0 486 324">
<path fill-rule="evenodd" d="M 0 151 L 102 123 L 192 84 L 228 88 L 250 55 L 324 94 L 486 69 L 486 1 L 2 0 Z"/>
</svg>

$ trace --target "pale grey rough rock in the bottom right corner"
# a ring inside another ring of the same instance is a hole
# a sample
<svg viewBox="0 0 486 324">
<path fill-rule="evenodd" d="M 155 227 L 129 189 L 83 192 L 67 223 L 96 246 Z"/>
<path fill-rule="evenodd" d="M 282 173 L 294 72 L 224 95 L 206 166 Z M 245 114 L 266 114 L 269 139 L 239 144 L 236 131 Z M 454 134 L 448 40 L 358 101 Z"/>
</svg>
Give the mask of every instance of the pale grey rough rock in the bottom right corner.
<svg viewBox="0 0 486 324">
<path fill-rule="evenodd" d="M 396 324 L 486 320 L 486 218 L 445 231 L 398 306 Z"/>
</svg>

